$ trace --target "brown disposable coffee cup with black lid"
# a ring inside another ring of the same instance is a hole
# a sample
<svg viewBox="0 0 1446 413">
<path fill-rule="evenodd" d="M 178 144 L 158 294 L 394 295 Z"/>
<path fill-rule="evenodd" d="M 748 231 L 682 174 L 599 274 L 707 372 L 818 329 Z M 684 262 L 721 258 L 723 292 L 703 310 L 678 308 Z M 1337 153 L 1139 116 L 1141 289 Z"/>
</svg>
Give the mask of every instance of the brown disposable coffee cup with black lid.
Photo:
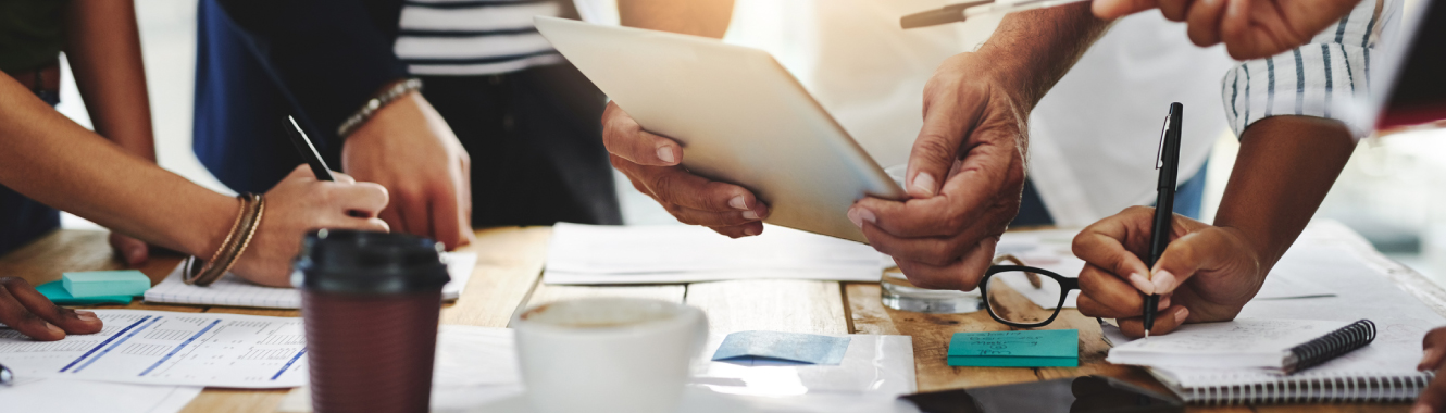
<svg viewBox="0 0 1446 413">
<path fill-rule="evenodd" d="M 301 290 L 311 406 L 428 412 L 447 264 L 427 238 L 321 230 L 291 282 Z"/>
</svg>

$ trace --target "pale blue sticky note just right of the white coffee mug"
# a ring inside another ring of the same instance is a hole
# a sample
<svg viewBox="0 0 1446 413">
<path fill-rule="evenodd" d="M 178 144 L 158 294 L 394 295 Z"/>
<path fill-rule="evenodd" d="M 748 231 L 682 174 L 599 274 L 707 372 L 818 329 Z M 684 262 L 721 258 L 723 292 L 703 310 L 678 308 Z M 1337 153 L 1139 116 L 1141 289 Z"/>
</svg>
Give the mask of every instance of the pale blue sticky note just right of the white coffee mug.
<svg viewBox="0 0 1446 413">
<path fill-rule="evenodd" d="M 713 354 L 713 361 L 735 364 L 820 364 L 837 365 L 849 351 L 847 336 L 778 331 L 740 331 L 729 334 Z M 778 362 L 782 361 L 782 362 Z"/>
</svg>

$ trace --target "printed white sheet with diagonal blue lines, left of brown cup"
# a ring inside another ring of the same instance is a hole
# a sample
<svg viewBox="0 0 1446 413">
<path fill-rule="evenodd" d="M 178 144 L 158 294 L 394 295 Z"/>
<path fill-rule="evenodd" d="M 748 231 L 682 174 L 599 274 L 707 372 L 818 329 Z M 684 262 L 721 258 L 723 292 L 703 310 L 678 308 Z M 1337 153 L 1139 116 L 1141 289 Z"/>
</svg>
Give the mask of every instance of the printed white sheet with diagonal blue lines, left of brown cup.
<svg viewBox="0 0 1446 413">
<path fill-rule="evenodd" d="M 0 360 L 16 377 L 275 388 L 307 383 L 299 318 L 107 310 L 98 334 L 32 341 L 0 329 Z"/>
</svg>

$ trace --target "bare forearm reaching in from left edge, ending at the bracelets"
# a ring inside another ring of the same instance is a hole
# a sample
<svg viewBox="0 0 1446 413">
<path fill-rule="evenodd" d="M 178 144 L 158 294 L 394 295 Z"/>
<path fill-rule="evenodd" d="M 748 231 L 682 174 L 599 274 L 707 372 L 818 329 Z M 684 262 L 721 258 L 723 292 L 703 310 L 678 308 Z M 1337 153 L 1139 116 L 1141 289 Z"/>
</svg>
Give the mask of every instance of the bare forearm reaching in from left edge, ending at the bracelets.
<svg viewBox="0 0 1446 413">
<path fill-rule="evenodd" d="M 207 256 L 237 202 L 69 121 L 0 75 L 0 185 L 161 247 Z"/>
</svg>

